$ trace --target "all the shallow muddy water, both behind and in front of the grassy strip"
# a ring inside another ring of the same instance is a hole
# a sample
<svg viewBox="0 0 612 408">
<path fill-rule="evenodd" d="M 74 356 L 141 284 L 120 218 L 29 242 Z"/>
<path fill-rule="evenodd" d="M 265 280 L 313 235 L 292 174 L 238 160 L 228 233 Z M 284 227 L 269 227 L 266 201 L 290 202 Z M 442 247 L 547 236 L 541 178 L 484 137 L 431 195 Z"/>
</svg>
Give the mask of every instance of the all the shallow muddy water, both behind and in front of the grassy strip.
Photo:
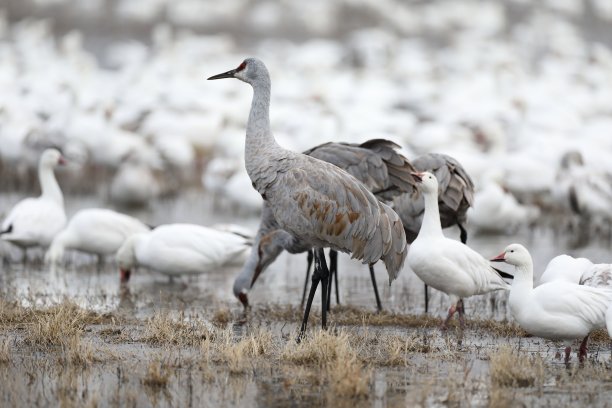
<svg viewBox="0 0 612 408">
<path fill-rule="evenodd" d="M 5 208 L 16 199 L 16 196 L 3 196 L 0 207 Z M 67 200 L 67 205 L 70 214 L 78 208 L 107 206 L 96 197 L 73 197 Z M 205 225 L 232 222 L 255 229 L 258 224 L 255 215 L 236 217 L 232 215 L 235 214 L 233 210 L 218 210 L 212 200 L 197 191 L 178 199 L 161 200 L 153 207 L 133 214 L 155 225 L 164 222 Z M 454 230 L 447 231 L 447 234 L 458 236 Z M 485 256 L 496 255 L 510 242 L 524 243 L 532 251 L 537 271 L 559 253 L 610 262 L 606 242 L 597 241 L 580 249 L 570 249 L 566 234 L 554 233 L 550 229 L 534 229 L 512 236 L 472 235 L 470 246 Z M 7 247 L 3 250 L 13 258 L 19 256 L 17 251 Z M 234 331 L 237 337 L 265 327 L 284 341 L 292 341 L 286 338 L 286 333 L 296 328 L 294 322 L 266 321 L 265 317 L 263 320 L 247 320 L 246 324 L 238 323 L 241 306 L 233 298 L 231 287 L 239 266 L 172 282 L 161 274 L 138 270 L 127 286 L 121 286 L 112 259 L 98 265 L 87 255 L 71 254 L 65 266 L 50 270 L 37 263 L 36 257 L 37 254 L 30 254 L 25 265 L 11 263 L 3 266 L 0 291 L 5 299 L 18 300 L 24 305 L 46 305 L 69 298 L 88 309 L 141 319 L 159 310 L 184 311 L 187 315 L 195 313 L 212 318 L 219 308 L 229 308 L 236 321 Z M 253 288 L 251 303 L 272 308 L 274 305 L 299 305 L 305 268 L 305 255 L 281 255 Z M 367 268 L 341 255 L 339 269 L 341 303 L 373 311 L 375 303 Z M 376 270 L 385 309 L 409 314 L 423 312 L 423 286 L 407 267 L 391 287 L 387 284 L 384 267 L 377 266 Z M 316 299 L 315 308 L 318 308 L 319 296 Z M 430 299 L 432 313 L 443 316 L 448 307 L 446 296 L 432 290 Z M 333 300 L 335 302 L 335 298 Z M 503 293 L 469 299 L 466 307 L 469 316 L 497 320 L 509 317 Z M 330 319 L 333 323 L 333 313 Z M 320 375 L 316 368 L 264 362 L 253 365 L 246 372 L 232 374 L 202 363 L 202 352 L 197 348 L 155 347 L 132 341 L 109 343 L 100 335 L 99 327 L 86 331 L 84 338 L 91 341 L 96 350 L 110 350 L 104 352 L 114 357 L 86 368 L 67 367 L 59 363 L 53 353 L 19 347 L 21 333 L 17 331 L 0 335 L 0 339 L 8 337 L 11 349 L 15 350 L 11 362 L 0 365 L 0 381 L 5 384 L 0 391 L 0 401 L 5 406 L 487 406 L 498 401 L 495 399 L 497 394 L 493 395 L 490 387 L 488 356 L 500 344 L 509 344 L 522 352 L 541 354 L 547 371 L 543 385 L 504 391 L 499 401 L 515 400 L 515 403 L 520 401 L 527 406 L 606 406 L 612 401 L 609 379 L 568 380 L 570 374 L 566 374 L 566 368 L 555 358 L 560 345 L 547 341 L 497 337 L 479 329 L 466 333 L 462 346 L 458 347 L 453 336 L 442 337 L 435 329 L 368 326 L 347 329 L 416 334 L 442 351 L 413 353 L 407 365 L 402 367 L 373 366 L 369 395 L 353 400 L 330 395 L 322 382 L 313 380 Z M 591 353 L 593 361 L 609 364 L 611 360 L 610 349 L 605 344 L 592 346 Z M 144 385 L 152 361 L 162 362 L 171 372 L 167 385 L 162 388 Z"/>
</svg>

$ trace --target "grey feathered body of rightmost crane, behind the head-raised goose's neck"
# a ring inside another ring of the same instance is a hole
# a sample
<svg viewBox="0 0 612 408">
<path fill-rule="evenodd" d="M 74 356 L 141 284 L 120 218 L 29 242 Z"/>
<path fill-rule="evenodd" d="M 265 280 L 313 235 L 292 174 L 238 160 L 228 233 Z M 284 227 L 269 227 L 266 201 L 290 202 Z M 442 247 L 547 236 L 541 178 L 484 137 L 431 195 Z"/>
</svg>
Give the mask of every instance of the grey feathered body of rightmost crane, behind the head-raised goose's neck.
<svg viewBox="0 0 612 408">
<path fill-rule="evenodd" d="M 412 161 L 412 165 L 418 171 L 433 173 L 438 179 L 442 228 L 453 225 L 463 228 L 467 221 L 467 210 L 474 202 L 474 182 L 463 166 L 454 158 L 439 153 L 420 156 Z M 404 194 L 393 200 L 393 208 L 402 219 L 406 239 L 408 242 L 414 241 L 423 222 L 424 201 L 418 193 L 416 196 Z"/>
</svg>

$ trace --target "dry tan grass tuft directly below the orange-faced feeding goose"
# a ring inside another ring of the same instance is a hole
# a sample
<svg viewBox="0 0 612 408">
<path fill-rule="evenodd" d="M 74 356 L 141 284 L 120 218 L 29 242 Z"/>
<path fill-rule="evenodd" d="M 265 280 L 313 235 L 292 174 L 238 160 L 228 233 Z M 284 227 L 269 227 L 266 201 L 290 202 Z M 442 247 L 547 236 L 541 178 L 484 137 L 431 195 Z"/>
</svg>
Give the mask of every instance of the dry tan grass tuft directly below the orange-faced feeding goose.
<svg viewBox="0 0 612 408">
<path fill-rule="evenodd" d="M 167 312 L 156 312 L 147 320 L 140 340 L 155 345 L 199 346 L 212 336 L 214 330 L 202 320 L 186 320 L 183 314 L 175 320 Z"/>
</svg>

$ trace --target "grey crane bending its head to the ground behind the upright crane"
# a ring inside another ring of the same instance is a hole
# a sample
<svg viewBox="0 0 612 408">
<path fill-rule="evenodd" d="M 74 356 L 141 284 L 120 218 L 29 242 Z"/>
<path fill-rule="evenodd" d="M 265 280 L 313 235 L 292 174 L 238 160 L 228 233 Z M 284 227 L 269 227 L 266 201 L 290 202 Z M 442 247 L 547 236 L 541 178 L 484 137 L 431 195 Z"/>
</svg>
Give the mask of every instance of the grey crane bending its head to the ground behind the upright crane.
<svg viewBox="0 0 612 408">
<path fill-rule="evenodd" d="M 410 164 L 398 150 L 400 146 L 385 140 L 372 139 L 365 143 L 324 143 L 315 146 L 304 154 L 324 160 L 334 164 L 359 181 L 364 183 L 370 191 L 380 200 L 391 200 L 393 197 L 415 191 L 414 167 Z M 264 202 L 259 231 L 256 238 L 256 250 L 254 250 L 249 260 L 245 263 L 241 273 L 236 277 L 234 283 L 234 295 L 240 299 L 242 304 L 248 306 L 247 292 L 255 282 L 259 274 L 265 270 L 278 255 L 284 250 L 289 253 L 297 254 L 308 252 L 308 266 L 306 268 L 306 280 L 302 294 L 302 306 L 306 298 L 310 266 L 312 264 L 312 251 L 307 243 L 291 236 L 283 231 L 274 220 L 274 215 L 270 211 L 268 204 Z M 335 278 L 336 302 L 339 303 L 338 275 L 337 275 L 337 253 L 330 250 L 330 279 Z M 378 310 L 382 309 L 378 287 L 374 276 L 373 266 L 370 265 L 370 278 L 376 297 Z M 329 285 L 328 310 L 331 297 L 331 287 Z"/>
</svg>

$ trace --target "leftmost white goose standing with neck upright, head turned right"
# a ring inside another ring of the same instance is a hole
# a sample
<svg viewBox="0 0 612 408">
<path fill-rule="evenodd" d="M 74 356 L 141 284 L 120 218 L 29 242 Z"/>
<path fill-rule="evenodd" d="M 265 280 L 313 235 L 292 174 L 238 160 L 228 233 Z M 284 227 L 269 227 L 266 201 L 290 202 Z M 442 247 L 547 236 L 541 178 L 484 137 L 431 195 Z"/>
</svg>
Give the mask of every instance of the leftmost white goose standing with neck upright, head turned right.
<svg viewBox="0 0 612 408">
<path fill-rule="evenodd" d="M 26 198 L 13 207 L 2 223 L 2 239 L 23 249 L 48 247 L 53 237 L 64 228 L 64 197 L 53 173 L 60 164 L 65 164 L 65 160 L 58 150 L 47 149 L 43 152 L 38 164 L 42 193 L 37 198 Z"/>
</svg>

